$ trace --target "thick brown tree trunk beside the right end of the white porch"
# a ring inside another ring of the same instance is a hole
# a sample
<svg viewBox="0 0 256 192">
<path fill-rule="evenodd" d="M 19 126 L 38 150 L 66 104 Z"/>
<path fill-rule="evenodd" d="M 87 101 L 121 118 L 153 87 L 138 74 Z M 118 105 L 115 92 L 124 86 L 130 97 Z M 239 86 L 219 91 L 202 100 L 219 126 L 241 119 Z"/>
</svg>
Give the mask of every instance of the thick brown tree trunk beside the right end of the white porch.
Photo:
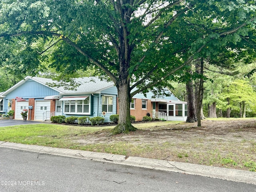
<svg viewBox="0 0 256 192">
<path fill-rule="evenodd" d="M 194 90 L 193 90 L 193 85 L 191 81 L 186 83 L 186 91 L 187 91 L 187 104 L 188 104 L 188 116 L 187 116 L 186 122 L 194 123 L 197 121 L 197 118 L 196 118 Z"/>
</svg>

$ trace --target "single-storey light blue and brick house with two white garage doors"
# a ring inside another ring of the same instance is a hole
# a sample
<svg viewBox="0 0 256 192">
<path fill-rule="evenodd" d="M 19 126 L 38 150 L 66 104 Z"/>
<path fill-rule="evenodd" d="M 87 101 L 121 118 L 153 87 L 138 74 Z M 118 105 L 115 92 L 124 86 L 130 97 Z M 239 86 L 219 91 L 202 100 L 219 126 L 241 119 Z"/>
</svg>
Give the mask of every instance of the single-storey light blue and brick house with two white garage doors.
<svg viewBox="0 0 256 192">
<path fill-rule="evenodd" d="M 15 111 L 14 118 L 22 119 L 20 113 L 28 109 L 28 120 L 49 120 L 50 116 L 102 116 L 109 122 L 112 114 L 118 114 L 118 95 L 113 82 L 96 77 L 77 78 L 80 86 L 76 90 L 50 87 L 48 78 L 27 76 L 5 92 L 0 93 L 2 110 Z M 170 92 L 168 89 L 163 91 Z M 150 113 L 151 117 L 165 120 L 186 121 L 187 104 L 170 97 L 152 98 L 152 92 L 145 97 L 136 94 L 131 102 L 131 115 L 136 121 Z M 103 112 L 106 112 L 105 116 Z M 165 114 L 165 115 L 163 115 Z"/>
</svg>

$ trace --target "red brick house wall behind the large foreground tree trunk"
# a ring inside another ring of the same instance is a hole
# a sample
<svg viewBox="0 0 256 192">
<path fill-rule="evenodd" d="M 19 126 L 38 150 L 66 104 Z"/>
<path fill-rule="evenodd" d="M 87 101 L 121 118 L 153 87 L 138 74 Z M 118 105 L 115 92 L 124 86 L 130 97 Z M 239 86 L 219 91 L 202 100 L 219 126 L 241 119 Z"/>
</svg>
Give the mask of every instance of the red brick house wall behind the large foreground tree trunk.
<svg viewBox="0 0 256 192">
<path fill-rule="evenodd" d="M 135 100 L 135 109 L 130 110 L 130 114 L 136 117 L 136 121 L 141 121 L 147 113 L 150 113 L 150 117 L 152 117 L 153 103 L 151 100 L 147 100 L 147 109 L 142 109 L 142 99 L 134 99 Z M 157 107 L 157 106 L 156 106 Z M 119 104 L 117 101 L 117 114 L 119 114 Z"/>
</svg>

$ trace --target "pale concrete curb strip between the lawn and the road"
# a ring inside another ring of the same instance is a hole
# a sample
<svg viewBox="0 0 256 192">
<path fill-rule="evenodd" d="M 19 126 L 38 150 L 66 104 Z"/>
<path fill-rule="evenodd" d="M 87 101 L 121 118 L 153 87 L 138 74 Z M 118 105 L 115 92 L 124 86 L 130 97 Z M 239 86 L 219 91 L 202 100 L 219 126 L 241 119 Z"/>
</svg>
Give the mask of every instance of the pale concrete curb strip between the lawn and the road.
<svg viewBox="0 0 256 192">
<path fill-rule="evenodd" d="M 107 153 L 89 152 L 82 150 L 52 148 L 46 146 L 26 145 L 12 142 L 0 141 L 0 147 L 36 152 L 38 154 L 52 154 L 66 156 L 71 158 L 80 158 L 86 160 L 95 160 L 100 162 L 109 162 L 128 166 L 143 167 L 147 169 L 156 169 L 184 174 L 200 175 L 211 178 L 219 178 L 235 182 L 250 183 L 256 185 L 256 172 L 235 170 L 228 168 L 219 168 L 213 166 L 203 166 L 190 163 L 172 162 L 167 160 L 156 160 L 141 157 L 126 157 L 123 155 L 114 155 Z"/>
</svg>

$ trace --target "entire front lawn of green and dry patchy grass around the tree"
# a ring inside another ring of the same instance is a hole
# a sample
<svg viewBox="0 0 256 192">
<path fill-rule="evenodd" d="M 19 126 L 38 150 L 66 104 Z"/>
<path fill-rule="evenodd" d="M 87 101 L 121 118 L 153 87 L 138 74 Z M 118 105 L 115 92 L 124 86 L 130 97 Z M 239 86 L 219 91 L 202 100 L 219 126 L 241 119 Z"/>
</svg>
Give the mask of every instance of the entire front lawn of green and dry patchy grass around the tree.
<svg viewBox="0 0 256 192">
<path fill-rule="evenodd" d="M 212 119 L 219 120 L 227 121 L 222 118 Z M 0 127 L 0 140 L 256 171 L 256 140 L 253 136 L 245 138 L 244 133 L 247 130 L 244 128 L 244 132 L 241 132 L 240 128 L 227 130 L 228 134 L 239 132 L 238 136 L 230 136 L 231 139 L 227 140 L 225 135 L 219 135 L 217 138 L 200 135 L 206 134 L 206 130 L 190 136 L 197 129 L 187 127 L 184 122 L 147 122 L 134 126 L 138 128 L 137 132 L 112 137 L 106 137 L 105 133 L 114 126 L 8 126 Z M 216 133 L 218 134 L 218 131 Z M 167 138 L 168 134 L 170 138 Z M 92 138 L 94 142 L 86 143 Z M 82 143 L 81 140 L 86 142 Z"/>
</svg>

